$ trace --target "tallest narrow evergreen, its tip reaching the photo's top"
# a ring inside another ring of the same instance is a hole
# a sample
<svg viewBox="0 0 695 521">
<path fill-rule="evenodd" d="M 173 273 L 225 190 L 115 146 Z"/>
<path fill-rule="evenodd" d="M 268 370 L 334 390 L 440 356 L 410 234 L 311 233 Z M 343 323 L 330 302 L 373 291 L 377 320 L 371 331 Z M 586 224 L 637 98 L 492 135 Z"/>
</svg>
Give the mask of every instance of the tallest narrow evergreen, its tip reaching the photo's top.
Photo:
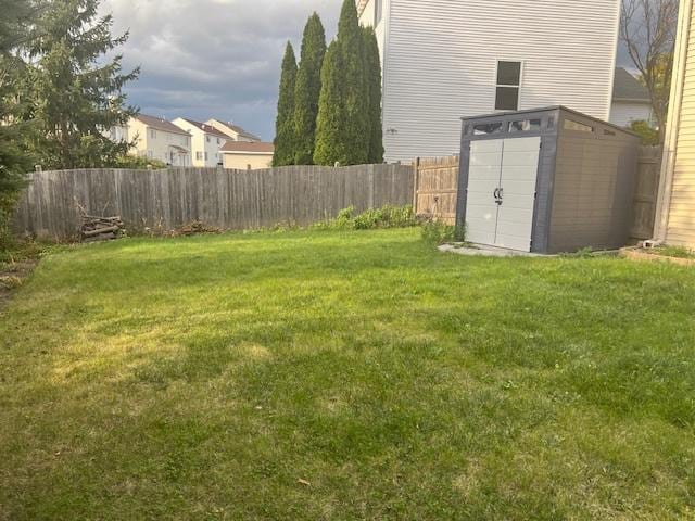
<svg viewBox="0 0 695 521">
<path fill-rule="evenodd" d="M 343 136 L 345 165 L 367 163 L 369 147 L 369 100 L 365 75 L 365 46 L 354 0 L 344 0 L 338 22 L 338 39 L 344 81 Z"/>
</svg>

